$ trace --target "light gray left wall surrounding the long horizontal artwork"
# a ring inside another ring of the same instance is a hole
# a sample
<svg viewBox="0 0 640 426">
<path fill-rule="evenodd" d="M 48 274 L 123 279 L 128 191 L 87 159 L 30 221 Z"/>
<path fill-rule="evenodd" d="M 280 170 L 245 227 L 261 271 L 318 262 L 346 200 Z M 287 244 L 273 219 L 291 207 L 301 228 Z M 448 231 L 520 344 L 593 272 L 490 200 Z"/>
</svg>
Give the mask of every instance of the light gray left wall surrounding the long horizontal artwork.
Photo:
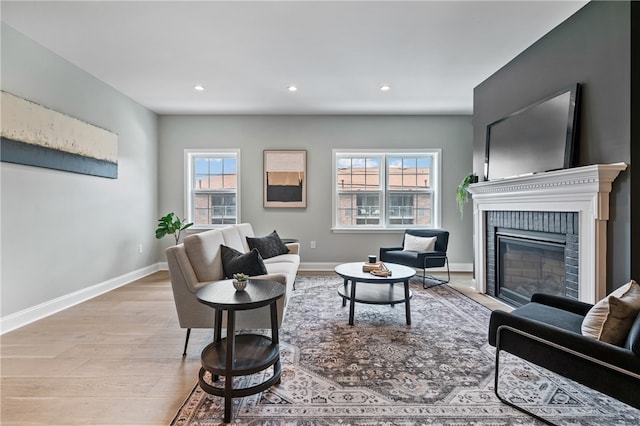
<svg viewBox="0 0 640 426">
<path fill-rule="evenodd" d="M 155 264 L 157 117 L 4 23 L 1 31 L 2 90 L 118 134 L 118 179 L 0 163 L 6 317 Z"/>
</svg>

